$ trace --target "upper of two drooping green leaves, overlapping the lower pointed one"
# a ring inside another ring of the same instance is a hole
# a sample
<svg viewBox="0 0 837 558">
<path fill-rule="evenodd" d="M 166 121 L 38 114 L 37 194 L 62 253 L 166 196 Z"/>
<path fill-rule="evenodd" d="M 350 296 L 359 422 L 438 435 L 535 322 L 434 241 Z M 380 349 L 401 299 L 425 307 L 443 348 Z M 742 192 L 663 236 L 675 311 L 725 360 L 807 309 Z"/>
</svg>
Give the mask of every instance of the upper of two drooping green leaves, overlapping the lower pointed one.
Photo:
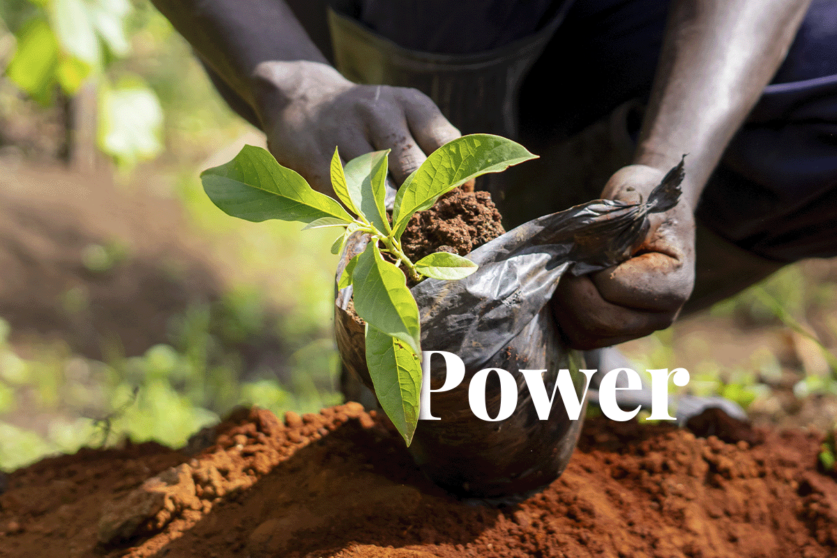
<svg viewBox="0 0 837 558">
<path fill-rule="evenodd" d="M 357 315 L 421 354 L 419 306 L 407 288 L 407 278 L 383 259 L 377 243 L 370 242 L 357 257 L 352 284 Z"/>
</svg>

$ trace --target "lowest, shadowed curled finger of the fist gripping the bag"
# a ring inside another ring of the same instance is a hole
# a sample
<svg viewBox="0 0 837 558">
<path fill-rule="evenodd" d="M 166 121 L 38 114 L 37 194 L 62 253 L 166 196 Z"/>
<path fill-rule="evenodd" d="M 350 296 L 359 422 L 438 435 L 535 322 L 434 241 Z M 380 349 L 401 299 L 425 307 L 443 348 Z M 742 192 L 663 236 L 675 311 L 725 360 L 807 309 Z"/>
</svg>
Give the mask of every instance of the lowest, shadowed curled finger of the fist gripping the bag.
<svg viewBox="0 0 837 558">
<path fill-rule="evenodd" d="M 602 298 L 587 276 L 562 277 L 552 298 L 552 313 L 570 346 L 595 349 L 665 330 L 677 311 L 633 310 Z"/>
</svg>

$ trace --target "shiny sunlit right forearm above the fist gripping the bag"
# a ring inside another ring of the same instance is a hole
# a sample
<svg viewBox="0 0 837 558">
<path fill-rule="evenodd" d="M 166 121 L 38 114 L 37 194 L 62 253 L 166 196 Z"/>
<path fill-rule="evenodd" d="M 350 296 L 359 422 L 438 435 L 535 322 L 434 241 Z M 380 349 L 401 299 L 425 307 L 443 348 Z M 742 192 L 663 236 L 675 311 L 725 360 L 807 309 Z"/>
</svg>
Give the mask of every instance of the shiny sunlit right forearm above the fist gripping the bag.
<svg viewBox="0 0 837 558">
<path fill-rule="evenodd" d="M 660 170 L 688 153 L 696 207 L 732 135 L 781 64 L 810 0 L 675 0 L 637 164 Z"/>
</svg>

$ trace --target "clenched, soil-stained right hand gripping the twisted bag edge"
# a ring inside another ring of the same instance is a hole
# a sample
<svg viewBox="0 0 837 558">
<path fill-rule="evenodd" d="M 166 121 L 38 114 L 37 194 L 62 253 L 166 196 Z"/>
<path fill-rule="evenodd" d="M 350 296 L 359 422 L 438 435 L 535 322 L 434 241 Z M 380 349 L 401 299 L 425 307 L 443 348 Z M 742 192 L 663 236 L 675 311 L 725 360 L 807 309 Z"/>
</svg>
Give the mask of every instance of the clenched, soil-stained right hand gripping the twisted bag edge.
<svg viewBox="0 0 837 558">
<path fill-rule="evenodd" d="M 665 171 L 631 165 L 617 171 L 602 197 L 648 199 Z M 688 177 L 683 191 L 688 192 Z M 552 310 L 570 345 L 612 346 L 663 330 L 674 322 L 695 283 L 695 218 L 686 196 L 668 212 L 652 213 L 634 255 L 598 273 L 562 277 Z"/>
</svg>

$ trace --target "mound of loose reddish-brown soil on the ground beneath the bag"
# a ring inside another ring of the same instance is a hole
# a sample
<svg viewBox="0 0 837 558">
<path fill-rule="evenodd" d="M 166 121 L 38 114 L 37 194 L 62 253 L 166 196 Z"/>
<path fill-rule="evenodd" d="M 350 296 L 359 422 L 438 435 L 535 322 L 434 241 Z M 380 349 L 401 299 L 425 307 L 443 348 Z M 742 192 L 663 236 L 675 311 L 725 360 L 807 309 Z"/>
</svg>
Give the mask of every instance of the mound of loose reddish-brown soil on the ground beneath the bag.
<svg viewBox="0 0 837 558">
<path fill-rule="evenodd" d="M 593 419 L 559 479 L 495 509 L 424 479 L 398 434 L 357 403 L 284 423 L 241 411 L 193 458 L 143 444 L 11 474 L 0 555 L 834 555 L 837 483 L 816 470 L 820 437 L 763 435 L 751 448 Z M 138 504 L 143 493 L 162 497 Z M 133 535 L 103 533 L 131 513 Z"/>
</svg>

